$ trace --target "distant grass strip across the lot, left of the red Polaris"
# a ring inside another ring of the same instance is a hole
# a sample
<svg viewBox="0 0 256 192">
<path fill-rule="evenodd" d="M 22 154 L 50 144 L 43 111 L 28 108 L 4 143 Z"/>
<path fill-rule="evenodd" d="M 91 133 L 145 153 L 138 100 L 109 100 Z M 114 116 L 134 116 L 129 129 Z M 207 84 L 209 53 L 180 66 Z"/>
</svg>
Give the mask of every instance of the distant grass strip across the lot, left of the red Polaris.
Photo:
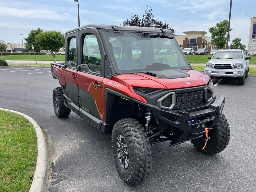
<svg viewBox="0 0 256 192">
<path fill-rule="evenodd" d="M 35 60 L 34 55 L 5 55 L 1 57 L 5 60 Z M 36 55 L 37 61 L 53 61 L 52 55 Z M 56 61 L 65 61 L 65 55 L 56 55 Z"/>
</svg>

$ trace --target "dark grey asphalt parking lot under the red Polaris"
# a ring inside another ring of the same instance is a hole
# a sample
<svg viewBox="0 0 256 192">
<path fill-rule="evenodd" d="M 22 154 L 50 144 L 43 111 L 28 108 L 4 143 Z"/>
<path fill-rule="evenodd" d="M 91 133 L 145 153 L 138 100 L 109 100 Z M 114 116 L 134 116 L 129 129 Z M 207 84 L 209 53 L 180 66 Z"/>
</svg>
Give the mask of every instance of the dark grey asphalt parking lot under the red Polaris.
<svg viewBox="0 0 256 192">
<path fill-rule="evenodd" d="M 25 113 L 44 130 L 49 143 L 49 192 L 63 191 L 256 191 L 256 77 L 214 79 L 217 98 L 226 97 L 224 114 L 230 142 L 219 154 L 206 156 L 190 142 L 152 146 L 153 168 L 140 185 L 126 185 L 115 169 L 111 135 L 104 135 L 71 112 L 57 118 L 52 90 L 59 82 L 49 67 L 0 68 L 0 108 Z M 218 82 L 218 84 L 216 84 Z"/>
</svg>

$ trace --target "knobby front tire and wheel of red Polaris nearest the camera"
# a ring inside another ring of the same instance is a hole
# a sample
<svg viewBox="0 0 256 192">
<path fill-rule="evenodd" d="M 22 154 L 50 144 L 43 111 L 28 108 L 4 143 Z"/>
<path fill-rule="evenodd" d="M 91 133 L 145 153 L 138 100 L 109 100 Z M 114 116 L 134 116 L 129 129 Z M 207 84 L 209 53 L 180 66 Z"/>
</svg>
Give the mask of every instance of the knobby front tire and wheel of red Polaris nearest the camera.
<svg viewBox="0 0 256 192">
<path fill-rule="evenodd" d="M 115 123 L 112 150 L 117 172 L 126 183 L 137 185 L 151 172 L 151 144 L 139 121 L 125 118 Z"/>
</svg>

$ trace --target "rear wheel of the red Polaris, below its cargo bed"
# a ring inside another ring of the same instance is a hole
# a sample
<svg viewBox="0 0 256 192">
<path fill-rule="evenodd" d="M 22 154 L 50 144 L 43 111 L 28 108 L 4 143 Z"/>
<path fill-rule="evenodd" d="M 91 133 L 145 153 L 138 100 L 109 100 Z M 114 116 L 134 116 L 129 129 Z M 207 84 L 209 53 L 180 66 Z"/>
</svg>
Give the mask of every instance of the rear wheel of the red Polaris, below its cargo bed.
<svg viewBox="0 0 256 192">
<path fill-rule="evenodd" d="M 71 110 L 64 105 L 64 98 L 61 87 L 53 89 L 52 101 L 54 112 L 57 117 L 69 116 Z"/>
</svg>

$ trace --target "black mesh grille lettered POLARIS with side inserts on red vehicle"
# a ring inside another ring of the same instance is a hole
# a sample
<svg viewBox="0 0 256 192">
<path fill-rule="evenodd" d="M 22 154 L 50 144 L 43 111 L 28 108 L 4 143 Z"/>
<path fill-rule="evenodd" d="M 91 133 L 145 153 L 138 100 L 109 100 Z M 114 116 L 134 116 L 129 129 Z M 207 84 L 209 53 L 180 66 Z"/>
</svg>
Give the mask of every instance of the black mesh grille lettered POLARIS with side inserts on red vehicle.
<svg viewBox="0 0 256 192">
<path fill-rule="evenodd" d="M 210 91 L 207 90 L 207 99 L 211 98 Z M 185 109 L 190 107 L 196 107 L 205 104 L 204 91 L 190 92 L 190 93 L 178 93 L 175 96 L 174 110 Z M 170 107 L 172 105 L 172 95 L 162 100 L 163 107 Z"/>
</svg>

